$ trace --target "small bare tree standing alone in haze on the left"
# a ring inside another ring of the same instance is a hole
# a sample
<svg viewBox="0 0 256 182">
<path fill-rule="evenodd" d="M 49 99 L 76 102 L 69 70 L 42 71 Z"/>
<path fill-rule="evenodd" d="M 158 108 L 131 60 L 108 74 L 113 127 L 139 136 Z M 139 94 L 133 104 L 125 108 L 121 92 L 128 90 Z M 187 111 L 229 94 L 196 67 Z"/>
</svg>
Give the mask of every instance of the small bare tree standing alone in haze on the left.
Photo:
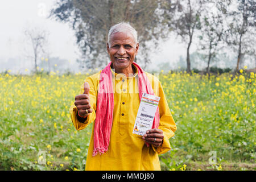
<svg viewBox="0 0 256 182">
<path fill-rule="evenodd" d="M 27 56 L 34 60 L 36 73 L 38 72 L 38 59 L 40 55 L 46 53 L 45 46 L 47 44 L 47 32 L 40 28 L 26 28 L 26 30 L 24 30 L 24 35 L 32 48 L 32 53 L 28 53 Z"/>
</svg>

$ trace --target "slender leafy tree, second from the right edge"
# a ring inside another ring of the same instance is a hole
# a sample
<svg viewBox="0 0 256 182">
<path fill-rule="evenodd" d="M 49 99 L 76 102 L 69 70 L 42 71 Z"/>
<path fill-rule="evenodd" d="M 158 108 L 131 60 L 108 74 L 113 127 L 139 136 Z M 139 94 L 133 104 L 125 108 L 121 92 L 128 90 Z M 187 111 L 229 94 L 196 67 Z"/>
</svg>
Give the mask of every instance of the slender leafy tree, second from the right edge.
<svg viewBox="0 0 256 182">
<path fill-rule="evenodd" d="M 207 57 L 207 73 L 210 78 L 209 65 L 212 58 L 217 55 L 221 48 L 222 35 L 224 33 L 223 16 L 220 11 L 216 9 L 215 1 L 208 2 L 204 6 L 204 11 L 201 20 L 200 29 L 200 46 L 204 51 L 208 51 Z"/>
</svg>

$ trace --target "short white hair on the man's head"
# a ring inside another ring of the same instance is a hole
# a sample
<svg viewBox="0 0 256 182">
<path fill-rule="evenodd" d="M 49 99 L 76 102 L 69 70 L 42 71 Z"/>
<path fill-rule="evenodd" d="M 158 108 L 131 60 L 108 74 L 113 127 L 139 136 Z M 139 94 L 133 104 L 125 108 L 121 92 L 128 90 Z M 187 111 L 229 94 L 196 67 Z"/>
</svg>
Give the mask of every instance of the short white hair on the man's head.
<svg viewBox="0 0 256 182">
<path fill-rule="evenodd" d="M 133 28 L 128 22 L 121 22 L 113 25 L 109 30 L 109 35 L 108 35 L 109 47 L 110 47 L 110 38 L 116 32 L 130 32 L 131 35 L 133 35 L 135 44 L 138 43 L 138 35 L 135 28 Z"/>
</svg>

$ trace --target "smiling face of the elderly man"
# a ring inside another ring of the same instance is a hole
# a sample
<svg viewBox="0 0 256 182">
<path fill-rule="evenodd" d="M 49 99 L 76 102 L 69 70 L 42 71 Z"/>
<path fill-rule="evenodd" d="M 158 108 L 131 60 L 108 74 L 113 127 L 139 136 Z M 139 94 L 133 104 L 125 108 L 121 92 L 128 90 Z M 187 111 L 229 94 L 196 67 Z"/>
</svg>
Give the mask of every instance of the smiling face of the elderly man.
<svg viewBox="0 0 256 182">
<path fill-rule="evenodd" d="M 139 44 L 135 44 L 133 35 L 126 32 L 116 32 L 111 36 L 107 50 L 114 69 L 124 69 L 131 66 L 137 55 Z"/>
</svg>

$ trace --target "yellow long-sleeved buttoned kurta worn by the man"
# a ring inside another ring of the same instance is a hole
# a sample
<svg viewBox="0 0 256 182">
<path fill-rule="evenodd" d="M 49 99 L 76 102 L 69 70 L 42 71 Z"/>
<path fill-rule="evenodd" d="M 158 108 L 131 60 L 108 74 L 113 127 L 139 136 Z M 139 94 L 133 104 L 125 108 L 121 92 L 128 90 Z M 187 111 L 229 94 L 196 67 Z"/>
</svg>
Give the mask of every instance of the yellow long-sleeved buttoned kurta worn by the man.
<svg viewBox="0 0 256 182">
<path fill-rule="evenodd" d="M 93 113 L 89 114 L 84 123 L 81 123 L 76 117 L 77 108 L 75 104 L 70 109 L 72 122 L 76 130 L 82 130 L 93 122 L 85 170 L 160 170 L 158 154 L 163 154 L 171 149 L 169 138 L 174 136 L 177 128 L 164 96 L 162 85 L 158 78 L 150 73 L 146 73 L 146 75 L 151 82 L 155 95 L 160 97 L 158 105 L 160 114 L 159 129 L 163 130 L 164 134 L 162 146 L 155 148 L 151 145 L 147 147 L 142 136 L 133 134 L 133 127 L 140 104 L 137 82 L 138 71 L 134 76 L 126 78 L 124 75 L 114 73 L 112 70 L 113 87 L 115 89 L 109 149 L 104 154 L 92 156 L 100 72 L 85 79 L 90 85 L 89 96 Z M 81 94 L 83 92 L 84 85 L 81 86 Z"/>
</svg>

